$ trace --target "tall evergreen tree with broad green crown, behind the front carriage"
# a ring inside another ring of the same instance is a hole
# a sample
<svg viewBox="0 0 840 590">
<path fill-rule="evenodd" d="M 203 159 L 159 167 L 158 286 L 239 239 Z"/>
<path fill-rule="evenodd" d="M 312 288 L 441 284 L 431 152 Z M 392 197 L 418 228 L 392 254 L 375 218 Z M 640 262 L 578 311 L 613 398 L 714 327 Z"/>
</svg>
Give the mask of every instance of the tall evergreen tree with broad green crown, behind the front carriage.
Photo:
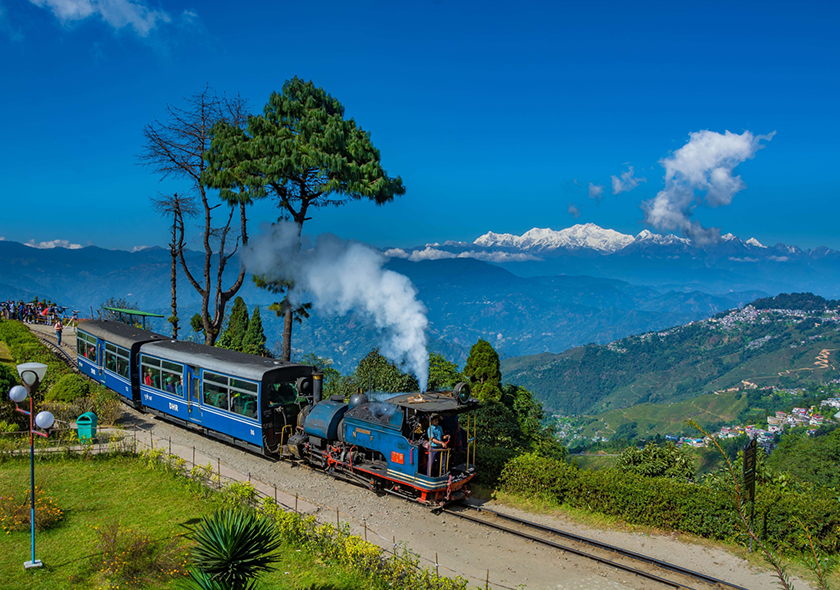
<svg viewBox="0 0 840 590">
<path fill-rule="evenodd" d="M 220 123 L 206 157 L 202 180 L 221 189 L 223 199 L 242 193 L 271 196 L 299 232 L 314 209 L 361 200 L 384 205 L 405 194 L 402 180 L 382 168 L 370 133 L 346 119 L 344 106 L 323 88 L 297 77 L 287 80 L 282 92 L 273 92 L 246 128 Z M 277 285 L 286 292 L 288 287 Z M 295 309 L 288 298 L 283 305 L 283 360 L 288 361 Z"/>
</svg>

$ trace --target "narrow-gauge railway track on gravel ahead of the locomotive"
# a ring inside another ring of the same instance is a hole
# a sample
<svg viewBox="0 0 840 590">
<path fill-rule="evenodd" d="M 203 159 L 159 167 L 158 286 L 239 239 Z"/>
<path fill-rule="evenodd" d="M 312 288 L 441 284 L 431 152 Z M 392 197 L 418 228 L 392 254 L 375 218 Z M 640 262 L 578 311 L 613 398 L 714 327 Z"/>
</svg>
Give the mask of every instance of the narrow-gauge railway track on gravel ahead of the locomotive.
<svg viewBox="0 0 840 590">
<path fill-rule="evenodd" d="M 495 510 L 461 503 L 443 508 L 441 512 L 594 560 L 611 568 L 620 569 L 653 582 L 657 587 L 678 588 L 680 590 L 706 590 L 711 588 L 717 590 L 747 590 L 742 586 L 678 565 Z M 481 516 L 474 513 L 481 514 Z"/>
</svg>

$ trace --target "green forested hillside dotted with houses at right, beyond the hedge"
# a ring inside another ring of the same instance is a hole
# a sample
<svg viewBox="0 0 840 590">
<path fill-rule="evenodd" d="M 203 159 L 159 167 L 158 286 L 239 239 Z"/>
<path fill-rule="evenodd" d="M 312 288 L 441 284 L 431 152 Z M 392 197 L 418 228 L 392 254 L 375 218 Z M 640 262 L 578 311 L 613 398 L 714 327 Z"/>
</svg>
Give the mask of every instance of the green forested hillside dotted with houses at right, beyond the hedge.
<svg viewBox="0 0 840 590">
<path fill-rule="evenodd" d="M 810 293 L 759 299 L 685 326 L 604 346 L 502 362 L 552 413 L 591 414 L 732 387 L 797 387 L 840 376 L 837 301 Z"/>
</svg>

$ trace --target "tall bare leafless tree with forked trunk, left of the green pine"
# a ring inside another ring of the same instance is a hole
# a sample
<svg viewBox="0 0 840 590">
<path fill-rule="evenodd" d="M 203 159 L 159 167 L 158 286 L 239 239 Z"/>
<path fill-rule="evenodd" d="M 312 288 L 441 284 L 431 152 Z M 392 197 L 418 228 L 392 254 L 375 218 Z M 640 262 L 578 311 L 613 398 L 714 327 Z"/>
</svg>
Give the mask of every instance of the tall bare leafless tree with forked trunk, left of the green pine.
<svg viewBox="0 0 840 590">
<path fill-rule="evenodd" d="M 248 105 L 239 96 L 219 96 L 209 87 L 184 100 L 186 105 L 183 108 L 167 105 L 164 120 L 155 119 L 146 125 L 143 129 L 143 151 L 139 155 L 139 160 L 141 164 L 160 174 L 162 179 L 172 177 L 189 182 L 190 190 L 200 201 L 200 205 L 196 203 L 197 208 L 204 211 L 204 223 L 200 226 L 204 245 L 204 276 L 193 275 L 187 266 L 183 236 L 179 240 L 177 250 L 187 280 L 201 296 L 204 341 L 212 346 L 221 331 L 225 306 L 239 291 L 245 278 L 245 268 L 240 267 L 233 285 L 228 289 L 223 287 L 222 276 L 228 262 L 236 254 L 240 243 L 242 245 L 248 243 L 248 219 L 245 208 L 251 204 L 251 198 L 243 189 L 239 192 L 228 191 L 225 200 L 212 203 L 216 197 L 211 198 L 202 182 L 202 175 L 207 168 L 205 153 L 210 148 L 213 128 L 217 123 L 224 122 L 240 128 L 245 126 Z M 214 211 L 222 205 L 228 206 L 230 211 L 227 215 L 220 216 L 224 225 L 214 226 Z M 239 212 L 238 230 L 234 225 L 237 209 Z M 181 232 L 183 232 L 183 217 L 180 223 Z M 213 257 L 216 254 L 218 258 L 214 272 Z M 175 315 L 174 283 L 172 297 L 173 315 Z"/>
</svg>

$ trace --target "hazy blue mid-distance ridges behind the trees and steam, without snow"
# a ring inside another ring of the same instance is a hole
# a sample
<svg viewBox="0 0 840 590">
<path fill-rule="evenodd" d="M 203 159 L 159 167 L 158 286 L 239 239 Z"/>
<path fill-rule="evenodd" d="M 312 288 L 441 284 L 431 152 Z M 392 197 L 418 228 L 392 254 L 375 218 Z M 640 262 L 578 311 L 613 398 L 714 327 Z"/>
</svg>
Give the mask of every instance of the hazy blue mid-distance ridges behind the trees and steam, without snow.
<svg viewBox="0 0 840 590">
<path fill-rule="evenodd" d="M 203 256 L 187 257 L 197 271 Z M 48 297 L 88 316 L 91 308 L 117 297 L 168 316 L 169 264 L 169 254 L 161 248 L 134 253 L 96 247 L 39 250 L 0 241 L 0 299 Z M 767 295 L 668 291 L 588 276 L 520 277 L 471 258 L 392 258 L 387 267 L 417 287 L 428 308 L 430 348 L 459 364 L 479 338 L 489 340 L 503 357 L 561 352 L 708 317 Z M 226 273 L 226 284 L 234 270 Z M 180 271 L 178 292 L 183 328 L 198 311 L 199 299 Z M 273 301 L 250 277 L 240 295 L 249 310 Z M 262 317 L 272 348 L 281 339 L 281 321 L 265 307 Z M 169 333 L 163 320 L 150 325 Z M 325 317 L 317 311 L 296 325 L 293 339 L 298 354 L 327 356 L 345 370 L 378 343 L 376 330 L 360 318 Z"/>
</svg>

